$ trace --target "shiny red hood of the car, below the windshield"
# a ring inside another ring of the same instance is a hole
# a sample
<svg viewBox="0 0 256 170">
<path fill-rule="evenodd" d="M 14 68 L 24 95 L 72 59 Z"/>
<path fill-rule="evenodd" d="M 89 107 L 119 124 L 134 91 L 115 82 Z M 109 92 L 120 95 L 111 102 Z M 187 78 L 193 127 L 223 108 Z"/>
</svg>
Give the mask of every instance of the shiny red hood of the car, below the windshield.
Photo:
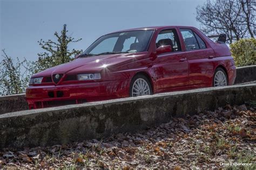
<svg viewBox="0 0 256 170">
<path fill-rule="evenodd" d="M 114 67 L 126 63 L 146 58 L 147 52 L 129 53 L 129 54 L 110 54 L 96 55 L 75 59 L 71 62 L 64 63 L 42 72 L 32 77 L 49 76 L 52 74 L 77 74 L 77 73 L 100 73 L 104 68 L 113 69 Z"/>
</svg>

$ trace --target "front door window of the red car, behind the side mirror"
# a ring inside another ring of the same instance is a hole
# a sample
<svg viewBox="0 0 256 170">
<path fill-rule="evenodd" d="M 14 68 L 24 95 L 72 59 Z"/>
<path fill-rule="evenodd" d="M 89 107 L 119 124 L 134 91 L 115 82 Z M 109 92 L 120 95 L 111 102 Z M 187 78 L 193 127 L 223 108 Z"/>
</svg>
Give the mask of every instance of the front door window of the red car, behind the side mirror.
<svg viewBox="0 0 256 170">
<path fill-rule="evenodd" d="M 172 47 L 172 52 L 181 51 L 179 37 L 176 30 L 163 30 L 158 34 L 156 40 L 157 48 L 165 45 L 170 45 Z"/>
</svg>

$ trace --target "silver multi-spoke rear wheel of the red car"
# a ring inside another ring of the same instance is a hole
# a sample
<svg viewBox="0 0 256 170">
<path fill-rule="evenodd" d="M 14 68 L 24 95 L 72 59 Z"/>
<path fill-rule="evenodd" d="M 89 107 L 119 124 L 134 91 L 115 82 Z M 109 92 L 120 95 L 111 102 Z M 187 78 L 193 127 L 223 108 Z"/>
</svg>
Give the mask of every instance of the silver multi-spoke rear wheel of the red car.
<svg viewBox="0 0 256 170">
<path fill-rule="evenodd" d="M 228 79 L 227 79 L 227 74 L 225 70 L 220 67 L 217 68 L 213 75 L 212 86 L 220 87 L 220 86 L 227 86 L 227 85 L 228 85 Z"/>
</svg>

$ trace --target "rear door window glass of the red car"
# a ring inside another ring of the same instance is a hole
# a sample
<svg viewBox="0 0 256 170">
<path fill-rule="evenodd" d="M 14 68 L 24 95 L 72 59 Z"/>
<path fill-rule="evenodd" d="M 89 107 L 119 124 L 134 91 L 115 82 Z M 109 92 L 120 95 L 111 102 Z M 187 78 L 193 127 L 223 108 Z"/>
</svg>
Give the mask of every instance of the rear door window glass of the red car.
<svg viewBox="0 0 256 170">
<path fill-rule="evenodd" d="M 180 29 L 180 32 L 185 42 L 187 51 L 206 48 L 205 42 L 192 30 Z"/>
</svg>

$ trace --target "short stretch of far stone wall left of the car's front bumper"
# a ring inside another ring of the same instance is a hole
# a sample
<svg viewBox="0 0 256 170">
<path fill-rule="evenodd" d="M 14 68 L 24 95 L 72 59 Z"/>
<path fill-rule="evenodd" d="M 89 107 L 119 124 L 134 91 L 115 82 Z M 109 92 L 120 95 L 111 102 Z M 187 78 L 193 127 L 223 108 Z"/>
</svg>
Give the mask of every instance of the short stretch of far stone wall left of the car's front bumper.
<svg viewBox="0 0 256 170">
<path fill-rule="evenodd" d="M 0 115 L 28 109 L 25 94 L 0 96 Z"/>
</svg>

